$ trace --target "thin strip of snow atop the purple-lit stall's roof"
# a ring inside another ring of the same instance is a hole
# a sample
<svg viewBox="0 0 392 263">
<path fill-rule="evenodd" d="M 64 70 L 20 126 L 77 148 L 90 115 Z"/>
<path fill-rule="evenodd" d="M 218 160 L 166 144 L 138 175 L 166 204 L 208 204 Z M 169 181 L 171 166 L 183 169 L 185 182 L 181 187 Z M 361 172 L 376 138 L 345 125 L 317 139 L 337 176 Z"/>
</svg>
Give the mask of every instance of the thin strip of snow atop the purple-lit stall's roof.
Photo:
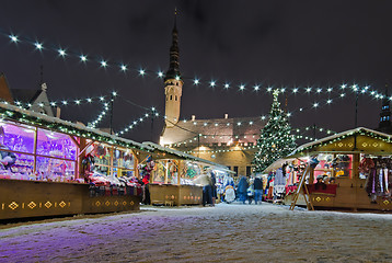
<svg viewBox="0 0 392 263">
<path fill-rule="evenodd" d="M 37 112 L 24 110 L 24 108 L 21 108 L 19 106 L 11 105 L 9 103 L 0 102 L 0 107 L 5 108 L 8 111 L 25 114 L 27 116 L 36 117 L 36 118 L 39 118 L 39 119 L 43 119 L 43 121 L 46 121 L 46 122 L 49 122 L 49 123 L 61 124 L 61 125 L 66 125 L 66 126 L 72 127 L 72 128 L 77 128 L 79 130 L 89 132 L 89 133 L 93 133 L 95 135 L 107 137 L 107 138 L 111 138 L 114 144 L 115 144 L 115 141 L 122 141 L 122 142 L 125 142 L 125 144 L 132 145 L 132 146 L 135 146 L 137 148 L 140 148 L 140 149 L 146 148 L 148 150 L 153 150 L 153 148 L 151 148 L 151 147 L 148 147 L 148 146 L 146 146 L 143 144 L 140 144 L 140 142 L 137 142 L 137 141 L 134 141 L 134 140 L 130 140 L 130 139 L 120 138 L 118 136 L 104 133 L 104 132 L 102 132 L 100 129 L 87 127 L 87 126 L 84 126 L 82 124 L 74 124 L 74 123 L 71 123 L 69 121 L 65 121 L 65 119 L 61 119 L 61 118 L 58 118 L 58 117 L 50 117 L 50 116 L 45 115 L 45 114 L 41 114 L 41 113 L 37 113 Z M 10 117 L 10 119 L 13 119 L 13 118 Z M 16 121 L 16 119 L 14 119 L 14 121 Z"/>
</svg>

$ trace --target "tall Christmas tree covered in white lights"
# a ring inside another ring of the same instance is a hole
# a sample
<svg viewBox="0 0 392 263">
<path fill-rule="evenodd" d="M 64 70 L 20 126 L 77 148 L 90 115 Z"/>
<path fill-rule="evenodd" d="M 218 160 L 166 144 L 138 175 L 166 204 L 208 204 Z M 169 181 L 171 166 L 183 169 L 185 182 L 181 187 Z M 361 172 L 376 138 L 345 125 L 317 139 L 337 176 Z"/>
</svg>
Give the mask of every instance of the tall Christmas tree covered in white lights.
<svg viewBox="0 0 392 263">
<path fill-rule="evenodd" d="M 297 147 L 287 113 L 280 108 L 278 94 L 279 91 L 275 90 L 268 123 L 261 129 L 257 140 L 258 151 L 252 162 L 254 172 L 263 172 L 274 161 L 286 157 Z"/>
</svg>

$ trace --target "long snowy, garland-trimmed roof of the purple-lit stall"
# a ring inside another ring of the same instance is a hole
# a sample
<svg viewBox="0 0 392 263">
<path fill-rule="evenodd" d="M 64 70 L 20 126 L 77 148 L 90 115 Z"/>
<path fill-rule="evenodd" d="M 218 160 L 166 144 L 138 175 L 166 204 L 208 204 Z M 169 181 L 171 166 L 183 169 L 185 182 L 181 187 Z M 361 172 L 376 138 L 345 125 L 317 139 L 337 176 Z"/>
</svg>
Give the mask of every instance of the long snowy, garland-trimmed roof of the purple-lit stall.
<svg viewBox="0 0 392 263">
<path fill-rule="evenodd" d="M 134 148 L 142 151 L 153 150 L 153 148 L 134 140 L 120 138 L 95 128 L 89 128 L 82 124 L 74 124 L 57 117 L 50 117 L 45 114 L 27 111 L 4 102 L 0 102 L 0 117 L 2 119 L 34 125 L 54 132 L 60 132 L 68 135 L 80 136 L 88 139 Z"/>
</svg>

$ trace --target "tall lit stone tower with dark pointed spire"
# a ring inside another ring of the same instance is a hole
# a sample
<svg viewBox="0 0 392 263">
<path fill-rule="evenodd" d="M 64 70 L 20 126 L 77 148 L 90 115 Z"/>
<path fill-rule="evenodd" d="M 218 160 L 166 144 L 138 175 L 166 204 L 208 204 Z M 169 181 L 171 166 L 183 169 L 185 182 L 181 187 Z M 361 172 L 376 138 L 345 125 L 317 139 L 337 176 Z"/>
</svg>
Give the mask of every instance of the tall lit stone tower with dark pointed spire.
<svg viewBox="0 0 392 263">
<path fill-rule="evenodd" d="M 172 32 L 172 46 L 170 47 L 170 65 L 164 77 L 165 94 L 165 127 L 174 127 L 180 121 L 181 95 L 183 93 L 183 80 L 180 73 L 178 32 L 176 27 L 177 11 L 174 14 L 174 27 Z"/>
</svg>

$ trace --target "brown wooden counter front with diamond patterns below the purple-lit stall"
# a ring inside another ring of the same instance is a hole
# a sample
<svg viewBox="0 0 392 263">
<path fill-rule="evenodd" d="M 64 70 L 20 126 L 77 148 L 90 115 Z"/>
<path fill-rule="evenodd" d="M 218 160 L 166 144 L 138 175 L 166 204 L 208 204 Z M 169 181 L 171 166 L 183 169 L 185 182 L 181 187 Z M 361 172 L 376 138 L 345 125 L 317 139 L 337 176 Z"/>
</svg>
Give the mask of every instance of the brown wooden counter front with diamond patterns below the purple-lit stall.
<svg viewBox="0 0 392 263">
<path fill-rule="evenodd" d="M 0 179 L 0 219 L 140 209 L 135 195 L 90 197 L 89 184 Z"/>
</svg>

